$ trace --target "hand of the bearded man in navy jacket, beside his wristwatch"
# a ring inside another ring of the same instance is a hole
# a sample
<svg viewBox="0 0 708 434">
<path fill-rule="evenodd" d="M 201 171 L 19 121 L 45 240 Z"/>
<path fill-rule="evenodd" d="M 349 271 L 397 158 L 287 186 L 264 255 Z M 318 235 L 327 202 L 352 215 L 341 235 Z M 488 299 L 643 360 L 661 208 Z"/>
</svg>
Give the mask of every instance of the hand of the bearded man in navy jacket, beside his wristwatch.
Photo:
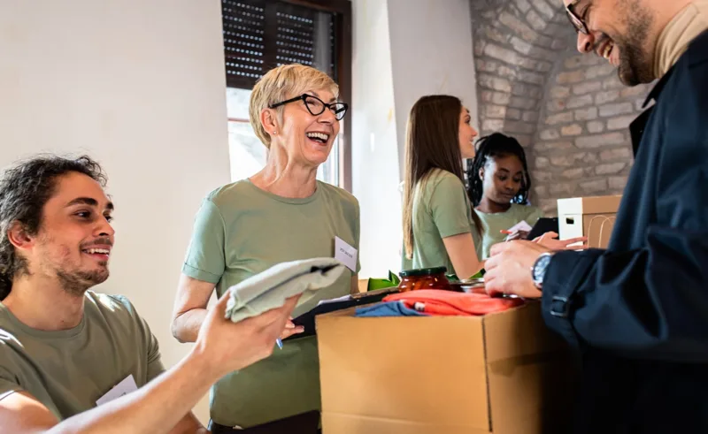
<svg viewBox="0 0 708 434">
<path fill-rule="evenodd" d="M 549 248 L 533 241 L 511 241 L 492 246 L 484 274 L 487 293 L 541 297 L 541 292 L 534 286 L 531 268 L 541 254 L 549 251 Z"/>
</svg>

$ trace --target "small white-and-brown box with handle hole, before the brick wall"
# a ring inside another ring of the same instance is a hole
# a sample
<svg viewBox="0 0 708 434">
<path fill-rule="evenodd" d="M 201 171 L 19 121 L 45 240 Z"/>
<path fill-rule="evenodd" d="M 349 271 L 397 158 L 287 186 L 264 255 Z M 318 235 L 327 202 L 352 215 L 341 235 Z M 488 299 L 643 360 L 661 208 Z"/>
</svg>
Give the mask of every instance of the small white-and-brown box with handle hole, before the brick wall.
<svg viewBox="0 0 708 434">
<path fill-rule="evenodd" d="M 589 247 L 606 248 L 621 201 L 621 195 L 558 199 L 560 239 L 586 236 Z"/>
</svg>

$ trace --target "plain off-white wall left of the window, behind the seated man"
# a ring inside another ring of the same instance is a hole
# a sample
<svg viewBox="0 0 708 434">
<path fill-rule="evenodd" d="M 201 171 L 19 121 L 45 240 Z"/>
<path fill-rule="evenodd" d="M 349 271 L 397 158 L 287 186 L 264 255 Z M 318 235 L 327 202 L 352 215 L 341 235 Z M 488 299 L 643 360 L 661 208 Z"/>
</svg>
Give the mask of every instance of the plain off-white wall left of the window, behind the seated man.
<svg viewBox="0 0 708 434">
<path fill-rule="evenodd" d="M 97 289 L 135 303 L 171 366 L 189 349 L 169 323 L 193 217 L 229 181 L 219 0 L 3 1 L 0 53 L 0 164 L 104 164 L 117 234 Z"/>
</svg>

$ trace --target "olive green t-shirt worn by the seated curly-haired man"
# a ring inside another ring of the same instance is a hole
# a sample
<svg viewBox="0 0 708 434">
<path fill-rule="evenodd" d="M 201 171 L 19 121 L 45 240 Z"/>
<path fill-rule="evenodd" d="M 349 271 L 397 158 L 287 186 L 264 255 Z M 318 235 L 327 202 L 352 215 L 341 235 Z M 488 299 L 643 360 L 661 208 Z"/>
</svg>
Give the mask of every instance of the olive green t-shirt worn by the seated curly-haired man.
<svg viewBox="0 0 708 434">
<path fill-rule="evenodd" d="M 130 375 L 142 387 L 164 370 L 158 339 L 123 296 L 88 291 L 81 323 L 63 331 L 32 329 L 0 303 L 0 400 L 27 392 L 61 421 Z"/>
</svg>

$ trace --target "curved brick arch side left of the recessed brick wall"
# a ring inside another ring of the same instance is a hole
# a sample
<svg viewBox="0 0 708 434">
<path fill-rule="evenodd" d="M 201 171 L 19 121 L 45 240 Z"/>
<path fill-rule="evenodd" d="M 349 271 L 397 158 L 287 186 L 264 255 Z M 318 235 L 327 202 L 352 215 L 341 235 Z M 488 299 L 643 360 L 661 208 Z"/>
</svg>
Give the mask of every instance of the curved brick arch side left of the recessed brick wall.
<svg viewBox="0 0 708 434">
<path fill-rule="evenodd" d="M 503 131 L 525 147 L 535 138 L 546 83 L 567 49 L 559 3 L 472 0 L 481 134 Z"/>
</svg>

